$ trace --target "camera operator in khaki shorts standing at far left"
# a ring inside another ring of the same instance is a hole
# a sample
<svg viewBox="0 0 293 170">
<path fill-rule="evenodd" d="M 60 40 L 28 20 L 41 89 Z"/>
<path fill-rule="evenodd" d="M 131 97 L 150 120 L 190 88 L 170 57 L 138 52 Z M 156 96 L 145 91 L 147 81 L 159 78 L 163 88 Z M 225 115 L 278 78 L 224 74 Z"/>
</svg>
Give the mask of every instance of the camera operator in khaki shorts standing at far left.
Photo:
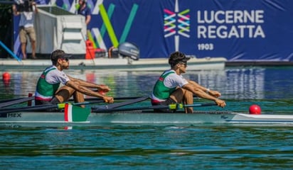
<svg viewBox="0 0 293 170">
<path fill-rule="evenodd" d="M 28 5 L 26 5 L 28 3 Z M 23 7 L 24 6 L 24 7 Z M 36 59 L 36 31 L 33 27 L 35 13 L 38 13 L 36 2 L 19 1 L 19 4 L 13 4 L 12 10 L 14 16 L 21 16 L 19 21 L 19 40 L 21 42 L 22 59 L 26 60 L 27 35 L 31 41 L 31 58 Z"/>
</svg>

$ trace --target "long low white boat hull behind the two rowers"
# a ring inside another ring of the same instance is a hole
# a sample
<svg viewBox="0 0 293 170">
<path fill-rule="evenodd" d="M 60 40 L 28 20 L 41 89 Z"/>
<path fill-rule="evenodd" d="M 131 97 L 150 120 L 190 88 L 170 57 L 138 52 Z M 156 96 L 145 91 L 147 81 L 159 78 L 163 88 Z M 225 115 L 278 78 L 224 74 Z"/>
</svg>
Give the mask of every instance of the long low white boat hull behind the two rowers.
<svg viewBox="0 0 293 170">
<path fill-rule="evenodd" d="M 224 69 L 224 57 L 191 57 L 188 61 L 188 70 L 217 70 Z M 0 68 L 4 69 L 43 69 L 50 66 L 52 63 L 47 60 L 17 60 L 1 59 Z M 70 69 L 116 69 L 121 71 L 163 71 L 169 69 L 167 58 L 151 58 L 132 60 L 129 57 L 124 58 L 95 58 L 93 60 L 70 60 Z"/>
</svg>

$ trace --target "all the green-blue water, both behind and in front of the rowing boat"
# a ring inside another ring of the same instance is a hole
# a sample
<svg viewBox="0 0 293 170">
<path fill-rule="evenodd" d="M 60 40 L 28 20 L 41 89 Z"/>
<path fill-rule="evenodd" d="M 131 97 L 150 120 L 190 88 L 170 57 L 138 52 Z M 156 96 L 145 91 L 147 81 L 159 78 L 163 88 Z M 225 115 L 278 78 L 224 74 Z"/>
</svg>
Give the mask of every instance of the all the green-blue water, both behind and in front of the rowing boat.
<svg viewBox="0 0 293 170">
<path fill-rule="evenodd" d="M 10 72 L 0 98 L 27 96 L 41 72 Z M 112 96 L 147 96 L 161 72 L 68 71 L 112 88 Z M 293 114 L 292 67 L 227 68 L 188 72 L 217 89 L 226 108 Z M 207 102 L 195 99 L 196 102 Z M 292 169 L 292 126 L 105 125 L 94 127 L 1 127 L 1 169 Z"/>
</svg>

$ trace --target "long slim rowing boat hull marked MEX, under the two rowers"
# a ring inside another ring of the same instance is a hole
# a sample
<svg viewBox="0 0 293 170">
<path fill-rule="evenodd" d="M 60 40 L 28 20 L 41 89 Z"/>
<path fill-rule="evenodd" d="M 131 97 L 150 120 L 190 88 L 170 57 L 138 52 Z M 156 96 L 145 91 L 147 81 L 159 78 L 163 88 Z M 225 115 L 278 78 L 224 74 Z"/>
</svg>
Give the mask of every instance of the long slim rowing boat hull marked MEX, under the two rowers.
<svg viewBox="0 0 293 170">
<path fill-rule="evenodd" d="M 151 113 L 90 113 L 81 122 L 65 121 L 64 113 L 17 112 L 1 113 L 0 125 L 53 126 L 53 125 L 293 125 L 293 115 L 250 115 L 230 112 Z"/>
</svg>

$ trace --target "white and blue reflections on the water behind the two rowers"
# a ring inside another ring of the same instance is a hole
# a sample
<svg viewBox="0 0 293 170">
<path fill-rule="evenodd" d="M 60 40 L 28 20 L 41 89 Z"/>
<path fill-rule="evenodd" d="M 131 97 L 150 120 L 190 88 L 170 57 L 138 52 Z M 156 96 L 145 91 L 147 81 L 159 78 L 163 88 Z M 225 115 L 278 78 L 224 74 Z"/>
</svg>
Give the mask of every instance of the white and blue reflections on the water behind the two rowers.
<svg viewBox="0 0 293 170">
<path fill-rule="evenodd" d="M 221 92 L 228 99 L 291 98 L 292 69 L 228 68 L 184 74 L 199 84 Z M 149 95 L 161 72 L 117 72 L 114 70 L 66 70 L 69 75 L 110 86 L 112 96 Z M 9 72 L 9 86 L 0 86 L 1 98 L 27 96 L 35 91 L 41 72 Z M 1 72 L 1 74 L 3 74 Z M 276 93 L 277 91 L 277 93 Z M 290 95 L 291 94 L 291 95 Z"/>
</svg>

